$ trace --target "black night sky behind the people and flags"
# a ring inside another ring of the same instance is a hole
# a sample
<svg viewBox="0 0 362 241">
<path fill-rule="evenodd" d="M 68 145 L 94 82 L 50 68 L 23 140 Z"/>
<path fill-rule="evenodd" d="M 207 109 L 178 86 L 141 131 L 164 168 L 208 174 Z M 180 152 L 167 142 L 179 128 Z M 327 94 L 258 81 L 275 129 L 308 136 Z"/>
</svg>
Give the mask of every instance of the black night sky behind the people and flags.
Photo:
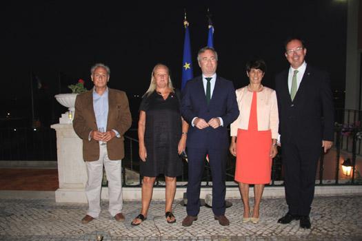
<svg viewBox="0 0 362 241">
<path fill-rule="evenodd" d="M 9 110 L 29 107 L 31 73 L 43 85 L 53 109 L 61 78 L 83 78 L 90 83 L 90 66 L 110 66 L 110 87 L 143 94 L 156 63 L 171 70 L 174 85 L 181 85 L 183 11 L 190 22 L 194 76 L 200 74 L 197 51 L 207 43 L 210 8 L 214 24 L 214 48 L 219 53 L 217 73 L 234 82 L 248 83 L 245 63 L 265 60 L 268 70 L 263 84 L 274 87 L 274 75 L 288 67 L 283 41 L 301 36 L 307 47 L 307 63 L 330 72 L 333 90 L 344 90 L 346 1 L 7 1 L 1 7 L 3 66 L 2 83 Z M 74 82 L 75 82 L 74 81 Z M 66 87 L 62 91 L 69 91 Z M 25 100 L 25 101 L 24 101 Z M 54 102 L 54 103 L 53 103 Z M 21 112 L 22 115 L 25 112 Z M 30 112 L 29 112 L 30 113 Z M 19 115 L 19 114 L 17 114 Z M 55 119 L 56 119 L 55 118 Z"/>
</svg>

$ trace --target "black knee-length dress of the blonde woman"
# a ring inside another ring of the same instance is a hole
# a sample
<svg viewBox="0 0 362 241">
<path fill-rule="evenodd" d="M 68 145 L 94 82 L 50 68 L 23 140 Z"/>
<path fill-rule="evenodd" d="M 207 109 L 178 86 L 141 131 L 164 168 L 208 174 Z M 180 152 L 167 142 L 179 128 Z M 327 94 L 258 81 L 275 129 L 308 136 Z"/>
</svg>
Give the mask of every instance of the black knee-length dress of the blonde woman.
<svg viewBox="0 0 362 241">
<path fill-rule="evenodd" d="M 180 92 L 170 93 L 165 100 L 154 91 L 143 96 L 139 110 L 145 112 L 146 161 L 140 160 L 141 176 L 181 176 L 182 160 L 177 153 L 181 138 Z"/>
</svg>

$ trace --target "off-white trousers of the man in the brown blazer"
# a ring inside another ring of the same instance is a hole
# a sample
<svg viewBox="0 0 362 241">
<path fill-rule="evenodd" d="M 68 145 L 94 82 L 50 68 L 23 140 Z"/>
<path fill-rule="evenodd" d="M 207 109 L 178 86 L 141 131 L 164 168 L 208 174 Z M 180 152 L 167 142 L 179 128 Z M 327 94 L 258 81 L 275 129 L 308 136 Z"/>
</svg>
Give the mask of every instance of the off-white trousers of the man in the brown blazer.
<svg viewBox="0 0 362 241">
<path fill-rule="evenodd" d="M 86 162 L 88 174 L 86 196 L 89 204 L 87 214 L 93 218 L 98 218 L 101 212 L 101 185 L 104 165 L 110 199 L 108 211 L 114 217 L 117 213 L 121 213 L 123 206 L 121 160 L 110 160 L 108 158 L 107 145 L 99 145 L 99 149 L 99 160 Z"/>
</svg>

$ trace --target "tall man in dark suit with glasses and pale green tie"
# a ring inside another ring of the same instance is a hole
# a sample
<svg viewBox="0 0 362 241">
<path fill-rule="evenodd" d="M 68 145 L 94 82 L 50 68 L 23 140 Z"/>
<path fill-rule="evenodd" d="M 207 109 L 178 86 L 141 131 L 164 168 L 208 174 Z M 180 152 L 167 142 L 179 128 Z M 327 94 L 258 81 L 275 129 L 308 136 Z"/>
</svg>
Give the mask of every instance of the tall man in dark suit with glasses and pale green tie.
<svg viewBox="0 0 362 241">
<path fill-rule="evenodd" d="M 276 76 L 279 134 L 285 174 L 288 213 L 278 220 L 310 229 L 310 206 L 314 198 L 316 166 L 321 147 L 332 147 L 334 108 L 326 72 L 305 63 L 307 49 L 301 39 L 285 42 L 290 68 Z"/>
</svg>

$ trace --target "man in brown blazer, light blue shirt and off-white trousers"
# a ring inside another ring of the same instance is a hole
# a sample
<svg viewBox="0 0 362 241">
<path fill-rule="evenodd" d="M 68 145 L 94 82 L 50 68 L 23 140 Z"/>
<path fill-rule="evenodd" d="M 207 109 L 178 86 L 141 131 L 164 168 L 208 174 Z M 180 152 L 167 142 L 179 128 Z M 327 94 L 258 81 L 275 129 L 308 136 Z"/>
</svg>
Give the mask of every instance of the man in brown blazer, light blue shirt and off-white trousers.
<svg viewBox="0 0 362 241">
<path fill-rule="evenodd" d="M 110 68 L 97 63 L 91 70 L 92 90 L 79 94 L 75 101 L 73 127 L 83 139 L 83 159 L 88 181 L 86 196 L 89 209 L 81 220 L 87 224 L 101 212 L 101 181 L 103 165 L 108 180 L 109 209 L 118 222 L 124 220 L 122 210 L 121 159 L 124 157 L 123 134 L 132 118 L 125 92 L 107 87 Z"/>
</svg>

